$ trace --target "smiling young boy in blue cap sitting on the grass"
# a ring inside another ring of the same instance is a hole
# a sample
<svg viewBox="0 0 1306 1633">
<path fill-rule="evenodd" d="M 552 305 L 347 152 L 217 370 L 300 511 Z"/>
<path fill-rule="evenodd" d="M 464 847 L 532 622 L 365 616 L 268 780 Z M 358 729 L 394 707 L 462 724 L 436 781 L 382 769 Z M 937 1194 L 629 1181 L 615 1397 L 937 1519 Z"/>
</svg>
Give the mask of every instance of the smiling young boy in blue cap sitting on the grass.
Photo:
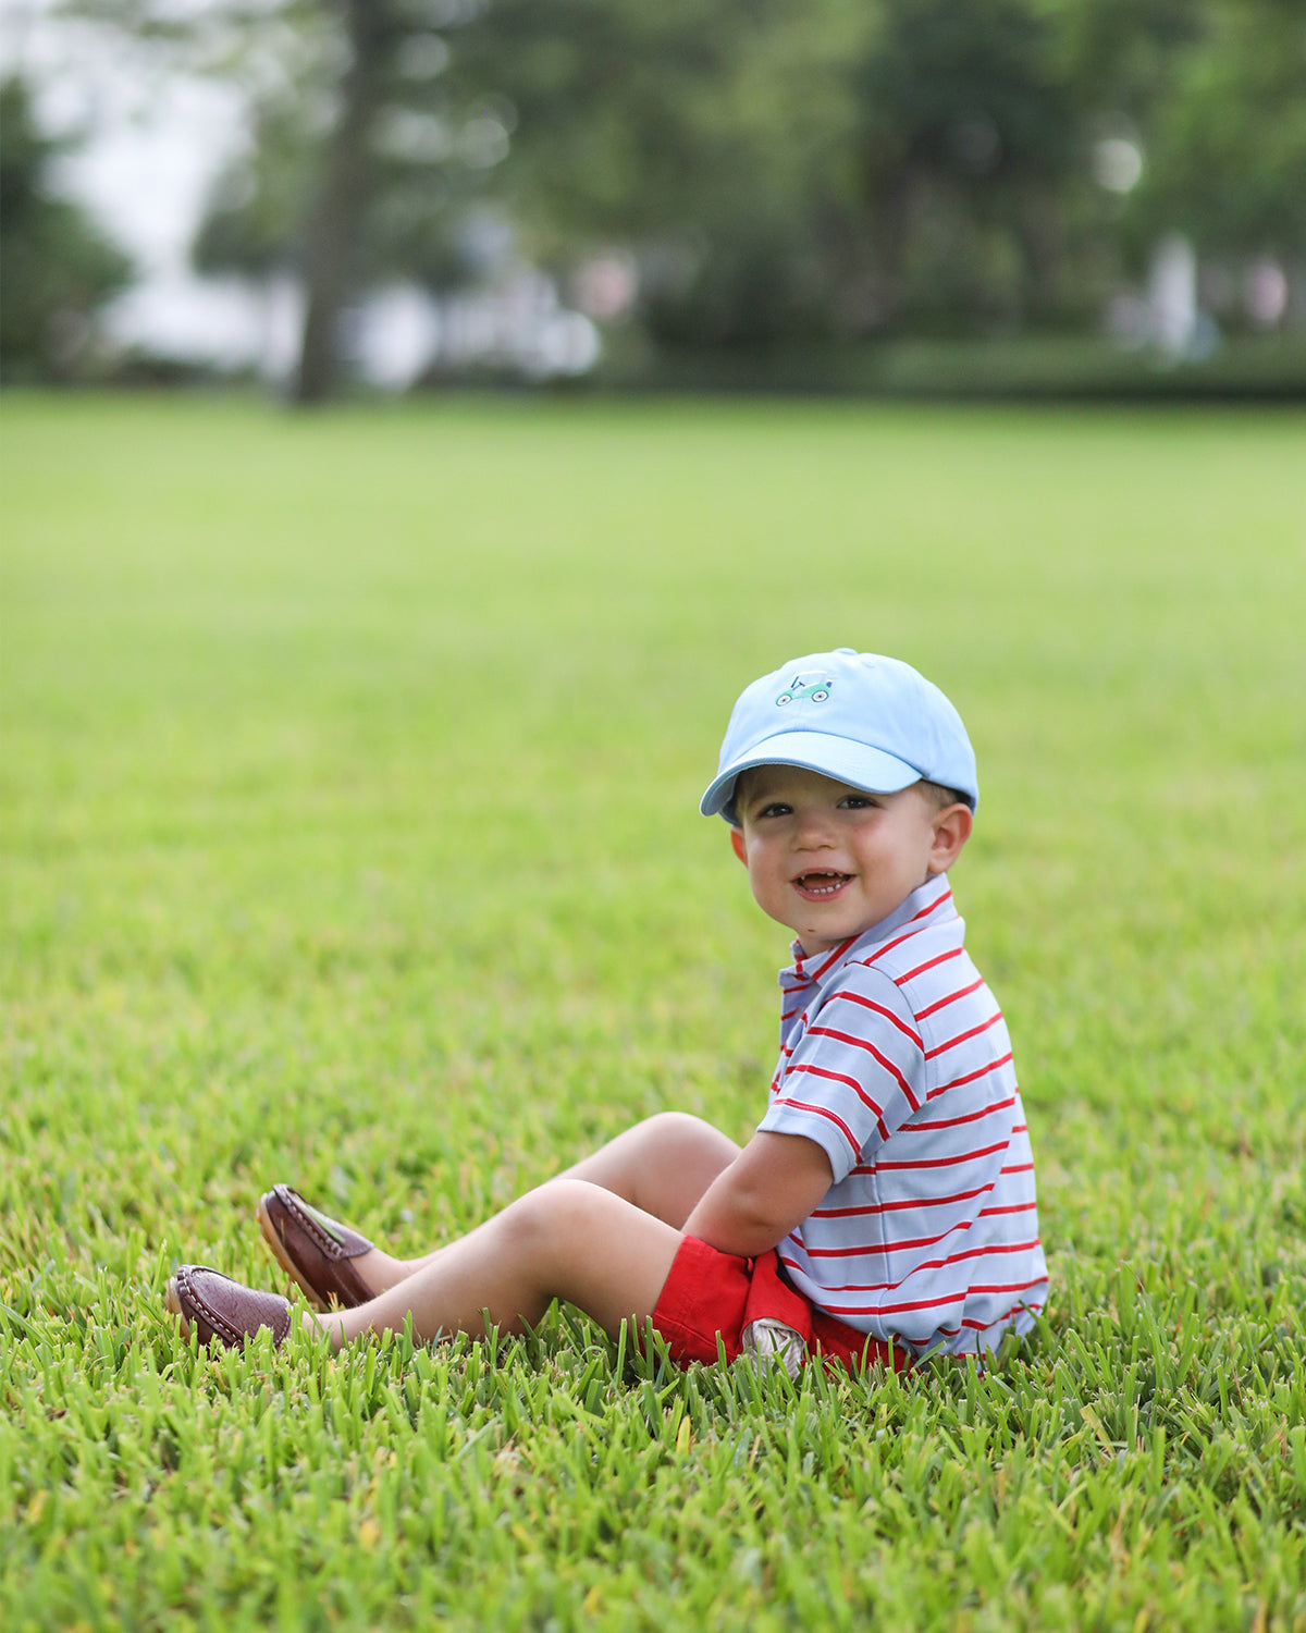
<svg viewBox="0 0 1306 1633">
<path fill-rule="evenodd" d="M 607 1333 L 651 1319 L 681 1364 L 808 1354 L 903 1367 L 1024 1333 L 1046 1295 L 1011 1042 L 962 944 L 948 869 L 978 803 L 944 694 L 893 658 L 795 658 L 735 705 L 702 812 L 730 823 L 757 905 L 793 931 L 766 1115 L 735 1145 L 695 1117 L 637 1124 L 421 1259 L 395 1259 L 287 1186 L 268 1244 L 335 1349 L 550 1300 Z M 204 1342 L 281 1342 L 291 1305 L 202 1266 L 168 1308 Z"/>
</svg>

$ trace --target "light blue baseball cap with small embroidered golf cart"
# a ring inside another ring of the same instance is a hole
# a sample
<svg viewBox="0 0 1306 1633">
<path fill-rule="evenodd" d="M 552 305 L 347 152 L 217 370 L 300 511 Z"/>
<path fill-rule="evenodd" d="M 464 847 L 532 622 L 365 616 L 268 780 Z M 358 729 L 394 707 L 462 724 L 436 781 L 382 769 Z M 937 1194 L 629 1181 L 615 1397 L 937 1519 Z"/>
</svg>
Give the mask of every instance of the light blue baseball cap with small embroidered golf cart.
<svg viewBox="0 0 1306 1633">
<path fill-rule="evenodd" d="M 868 794 L 922 777 L 980 803 L 962 717 L 909 663 L 873 652 L 813 652 L 748 686 L 725 730 L 704 816 L 735 821 L 735 782 L 749 766 L 803 766 Z"/>
</svg>

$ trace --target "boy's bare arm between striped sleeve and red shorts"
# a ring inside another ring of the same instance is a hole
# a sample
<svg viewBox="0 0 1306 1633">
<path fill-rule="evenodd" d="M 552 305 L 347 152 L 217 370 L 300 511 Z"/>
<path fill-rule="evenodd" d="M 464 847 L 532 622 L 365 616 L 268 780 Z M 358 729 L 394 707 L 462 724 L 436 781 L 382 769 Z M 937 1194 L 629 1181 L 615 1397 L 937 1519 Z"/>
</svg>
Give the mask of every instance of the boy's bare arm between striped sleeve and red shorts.
<svg viewBox="0 0 1306 1633">
<path fill-rule="evenodd" d="M 829 1158 L 815 1140 L 754 1133 L 699 1199 L 684 1223 L 686 1236 L 756 1259 L 802 1225 L 833 1181 Z"/>
</svg>

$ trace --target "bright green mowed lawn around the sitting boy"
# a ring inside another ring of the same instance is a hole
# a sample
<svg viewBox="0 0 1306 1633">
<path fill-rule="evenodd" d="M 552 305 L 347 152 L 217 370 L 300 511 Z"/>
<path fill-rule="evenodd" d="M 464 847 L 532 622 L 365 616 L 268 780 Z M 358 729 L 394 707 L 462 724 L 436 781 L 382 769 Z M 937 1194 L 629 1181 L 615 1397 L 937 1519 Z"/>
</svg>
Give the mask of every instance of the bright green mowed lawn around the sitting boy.
<svg viewBox="0 0 1306 1633">
<path fill-rule="evenodd" d="M 0 412 L 0 1625 L 1306 1628 L 1306 418 Z M 953 875 L 1051 1303 L 984 1375 L 302 1334 L 661 1109 L 744 1138 L 785 936 L 697 815 L 833 645 L 965 715 Z"/>
</svg>

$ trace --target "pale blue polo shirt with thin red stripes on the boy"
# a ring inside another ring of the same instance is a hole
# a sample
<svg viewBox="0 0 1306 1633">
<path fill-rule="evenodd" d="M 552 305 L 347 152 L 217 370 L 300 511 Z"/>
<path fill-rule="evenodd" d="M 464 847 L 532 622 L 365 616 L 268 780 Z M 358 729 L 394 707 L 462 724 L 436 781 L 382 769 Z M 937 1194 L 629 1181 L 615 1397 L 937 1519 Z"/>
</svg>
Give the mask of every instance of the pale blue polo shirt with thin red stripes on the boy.
<svg viewBox="0 0 1306 1633">
<path fill-rule="evenodd" d="M 833 952 L 795 942 L 757 1124 L 834 1171 L 780 1243 L 793 1285 L 916 1355 L 994 1349 L 1048 1290 L 1011 1040 L 963 936 L 940 875 Z"/>
</svg>

